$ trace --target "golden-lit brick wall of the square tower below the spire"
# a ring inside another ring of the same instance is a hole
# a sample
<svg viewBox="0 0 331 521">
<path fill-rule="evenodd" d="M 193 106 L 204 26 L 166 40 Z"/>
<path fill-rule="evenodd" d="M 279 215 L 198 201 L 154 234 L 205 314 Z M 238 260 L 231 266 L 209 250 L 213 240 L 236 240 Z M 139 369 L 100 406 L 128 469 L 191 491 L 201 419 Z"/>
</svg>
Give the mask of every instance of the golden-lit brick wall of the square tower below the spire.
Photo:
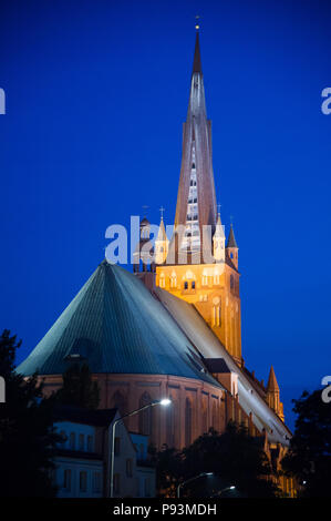
<svg viewBox="0 0 331 521">
<path fill-rule="evenodd" d="M 241 365 L 239 274 L 227 264 L 163 265 L 156 286 L 194 304 L 235 360 Z"/>
</svg>

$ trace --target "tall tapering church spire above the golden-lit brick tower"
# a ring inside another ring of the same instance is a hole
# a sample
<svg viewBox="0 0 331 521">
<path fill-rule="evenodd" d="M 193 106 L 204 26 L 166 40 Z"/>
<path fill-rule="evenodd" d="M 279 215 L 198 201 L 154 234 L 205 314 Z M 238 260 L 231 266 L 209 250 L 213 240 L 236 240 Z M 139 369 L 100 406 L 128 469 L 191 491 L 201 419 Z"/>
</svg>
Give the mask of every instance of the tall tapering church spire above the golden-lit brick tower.
<svg viewBox="0 0 331 521">
<path fill-rule="evenodd" d="M 204 225 L 215 231 L 216 195 L 211 157 L 211 122 L 207 120 L 199 33 L 196 33 L 190 92 L 183 129 L 180 178 L 175 227 L 182 225 L 170 247 L 176 253 L 201 252 Z M 199 264 L 200 260 L 198 260 Z"/>
</svg>

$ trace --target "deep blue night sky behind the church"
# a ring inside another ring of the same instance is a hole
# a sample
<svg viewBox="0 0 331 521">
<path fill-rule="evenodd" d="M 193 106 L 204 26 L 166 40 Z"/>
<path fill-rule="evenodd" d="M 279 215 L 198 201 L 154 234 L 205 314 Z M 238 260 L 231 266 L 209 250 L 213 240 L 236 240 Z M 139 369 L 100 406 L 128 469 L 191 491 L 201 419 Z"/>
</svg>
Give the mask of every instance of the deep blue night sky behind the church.
<svg viewBox="0 0 331 521">
<path fill-rule="evenodd" d="M 290 399 L 331 372 L 331 2 L 1 2 L 0 327 L 24 358 L 104 256 L 110 224 L 175 214 L 195 14 L 242 351 Z"/>
</svg>

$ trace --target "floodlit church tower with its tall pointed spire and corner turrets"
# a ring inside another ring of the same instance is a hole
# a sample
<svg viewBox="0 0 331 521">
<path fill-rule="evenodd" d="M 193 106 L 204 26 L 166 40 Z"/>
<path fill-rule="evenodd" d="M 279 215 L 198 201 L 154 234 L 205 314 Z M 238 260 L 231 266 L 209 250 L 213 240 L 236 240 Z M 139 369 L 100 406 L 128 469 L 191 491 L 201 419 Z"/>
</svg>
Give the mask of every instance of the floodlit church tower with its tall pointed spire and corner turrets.
<svg viewBox="0 0 331 521">
<path fill-rule="evenodd" d="M 211 122 L 206 112 L 198 31 L 183 126 L 175 228 L 168 245 L 164 238 L 162 221 L 155 243 L 156 286 L 193 304 L 241 366 L 238 246 L 231 228 L 225 247 L 217 213 Z"/>
</svg>

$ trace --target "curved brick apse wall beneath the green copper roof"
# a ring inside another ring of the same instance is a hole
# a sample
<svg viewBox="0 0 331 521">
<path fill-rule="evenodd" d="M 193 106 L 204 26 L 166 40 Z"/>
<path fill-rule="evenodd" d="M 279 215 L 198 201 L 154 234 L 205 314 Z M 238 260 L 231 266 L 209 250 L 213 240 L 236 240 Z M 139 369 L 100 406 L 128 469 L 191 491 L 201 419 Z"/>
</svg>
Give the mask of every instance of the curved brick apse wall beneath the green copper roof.
<svg viewBox="0 0 331 521">
<path fill-rule="evenodd" d="M 61 376 L 43 378 L 46 394 L 62 385 Z M 147 435 L 157 449 L 165 443 L 180 449 L 210 427 L 224 432 L 230 419 L 238 421 L 241 410 L 238 397 L 196 379 L 165 375 L 94 375 L 93 378 L 101 389 L 101 409 L 117 407 L 124 415 L 138 409 L 142 400 L 151 402 L 164 397 L 173 400 L 168 407 L 155 406 L 125 420 L 130 431 Z M 244 410 L 240 415 L 249 421 Z"/>
</svg>

